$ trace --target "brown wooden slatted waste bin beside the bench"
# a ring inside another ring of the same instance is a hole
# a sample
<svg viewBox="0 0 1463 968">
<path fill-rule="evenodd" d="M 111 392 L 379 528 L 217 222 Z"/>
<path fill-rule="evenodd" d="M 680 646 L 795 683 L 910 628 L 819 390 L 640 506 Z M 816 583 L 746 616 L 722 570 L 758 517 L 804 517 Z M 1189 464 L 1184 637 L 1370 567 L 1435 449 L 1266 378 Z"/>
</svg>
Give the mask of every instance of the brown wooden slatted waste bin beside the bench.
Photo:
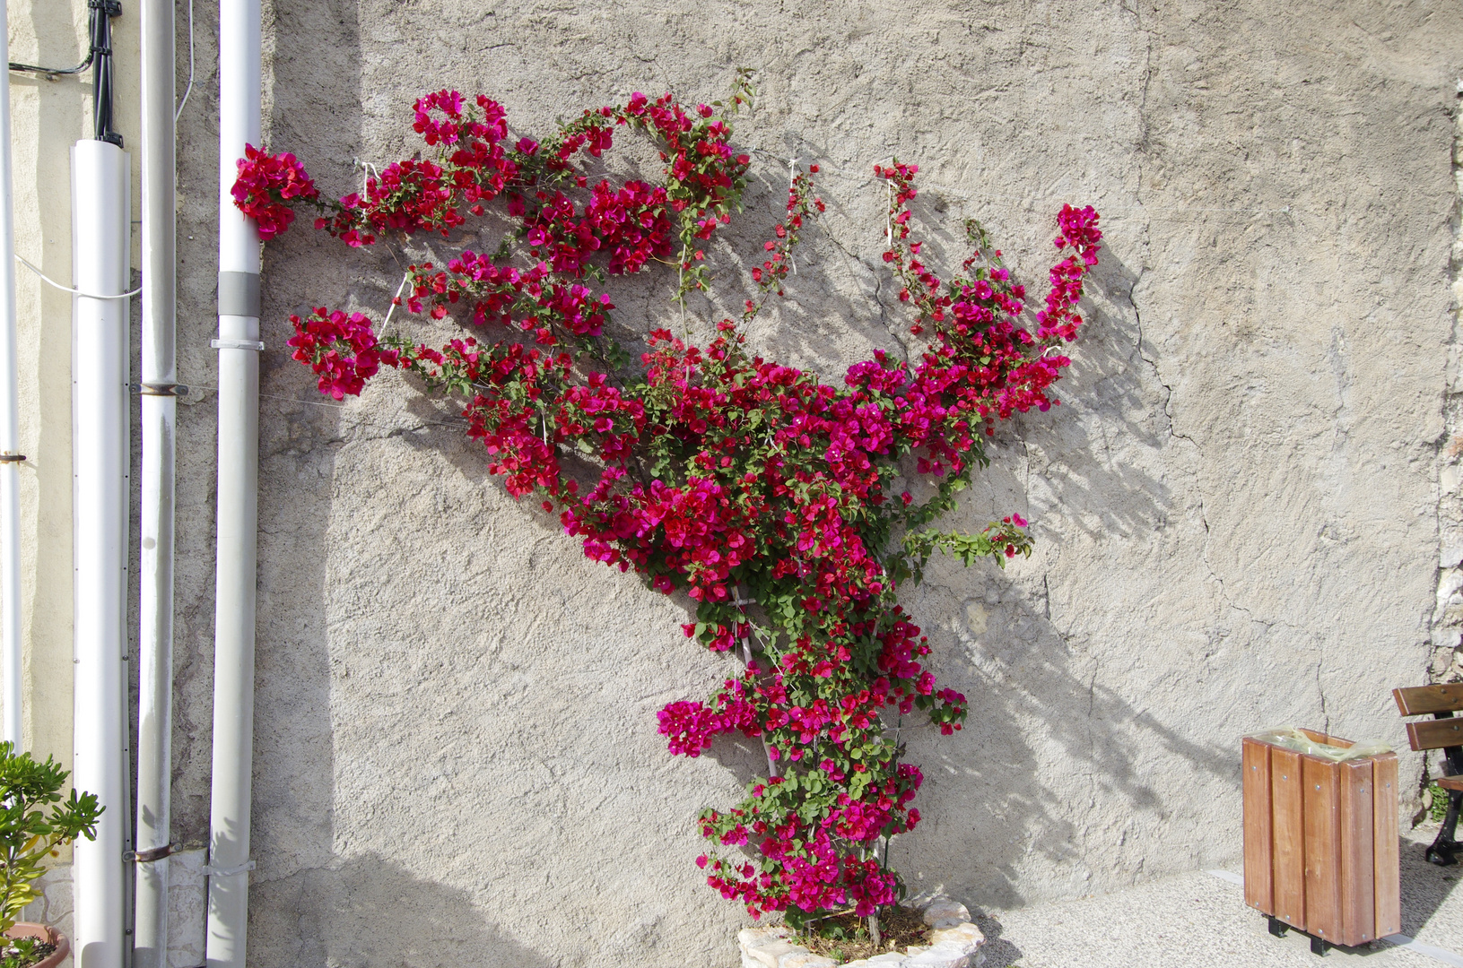
<svg viewBox="0 0 1463 968">
<path fill-rule="evenodd" d="M 1245 904 L 1331 945 L 1400 931 L 1397 755 L 1336 762 L 1245 737 L 1244 771 Z"/>
</svg>

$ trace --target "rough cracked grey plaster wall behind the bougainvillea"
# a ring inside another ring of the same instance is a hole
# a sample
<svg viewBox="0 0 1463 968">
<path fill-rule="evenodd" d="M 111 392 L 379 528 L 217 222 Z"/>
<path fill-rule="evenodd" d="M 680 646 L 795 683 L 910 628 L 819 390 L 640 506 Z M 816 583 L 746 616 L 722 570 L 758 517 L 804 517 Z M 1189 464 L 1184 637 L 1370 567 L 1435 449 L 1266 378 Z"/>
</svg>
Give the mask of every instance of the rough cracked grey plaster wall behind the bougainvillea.
<svg viewBox="0 0 1463 968">
<path fill-rule="evenodd" d="M 824 165 L 825 227 L 755 339 L 825 374 L 907 351 L 873 162 L 919 162 L 919 213 L 980 216 L 1036 290 L 1059 205 L 1102 211 L 1064 405 L 1002 430 L 951 522 L 1020 510 L 1037 553 L 944 563 L 909 597 L 973 700 L 955 737 L 907 733 L 929 778 L 894 848 L 913 885 L 1001 907 L 1233 863 L 1241 734 L 1402 741 L 1388 689 L 1450 661 L 1456 629 L 1429 636 L 1457 456 L 1457 4 L 275 0 L 266 20 L 268 142 L 334 193 L 353 158 L 411 151 L 426 91 L 481 91 L 541 135 L 759 69 L 737 133 L 765 154 L 733 238 L 746 253 L 775 219 L 780 158 Z M 199 83 L 180 368 L 211 386 L 217 76 Z M 756 756 L 672 759 L 655 736 L 663 703 L 726 671 L 680 636 L 686 602 L 585 560 L 395 374 L 322 405 L 285 317 L 380 311 L 388 253 L 300 231 L 265 265 L 250 962 L 730 965 L 745 918 L 699 883 L 692 819 Z M 616 303 L 628 329 L 670 317 L 642 284 Z M 704 328 L 714 307 L 692 309 Z M 199 842 L 215 424 L 211 390 L 190 401 L 174 749 Z"/>
</svg>

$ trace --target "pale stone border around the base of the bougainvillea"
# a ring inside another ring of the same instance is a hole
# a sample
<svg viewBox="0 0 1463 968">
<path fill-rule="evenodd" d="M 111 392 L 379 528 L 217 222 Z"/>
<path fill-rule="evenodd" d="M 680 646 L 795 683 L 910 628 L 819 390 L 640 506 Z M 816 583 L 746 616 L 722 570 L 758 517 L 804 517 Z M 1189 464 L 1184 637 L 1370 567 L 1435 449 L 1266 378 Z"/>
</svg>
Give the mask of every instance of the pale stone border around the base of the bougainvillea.
<svg viewBox="0 0 1463 968">
<path fill-rule="evenodd" d="M 840 967 L 787 940 L 790 929 L 749 927 L 736 936 L 742 968 L 976 968 L 985 961 L 980 946 L 986 943 L 986 936 L 971 924 L 966 905 L 942 893 L 920 895 L 907 905 L 923 914 L 925 924 L 935 929 L 930 945 L 910 945 L 904 952 L 860 958 Z"/>
</svg>

